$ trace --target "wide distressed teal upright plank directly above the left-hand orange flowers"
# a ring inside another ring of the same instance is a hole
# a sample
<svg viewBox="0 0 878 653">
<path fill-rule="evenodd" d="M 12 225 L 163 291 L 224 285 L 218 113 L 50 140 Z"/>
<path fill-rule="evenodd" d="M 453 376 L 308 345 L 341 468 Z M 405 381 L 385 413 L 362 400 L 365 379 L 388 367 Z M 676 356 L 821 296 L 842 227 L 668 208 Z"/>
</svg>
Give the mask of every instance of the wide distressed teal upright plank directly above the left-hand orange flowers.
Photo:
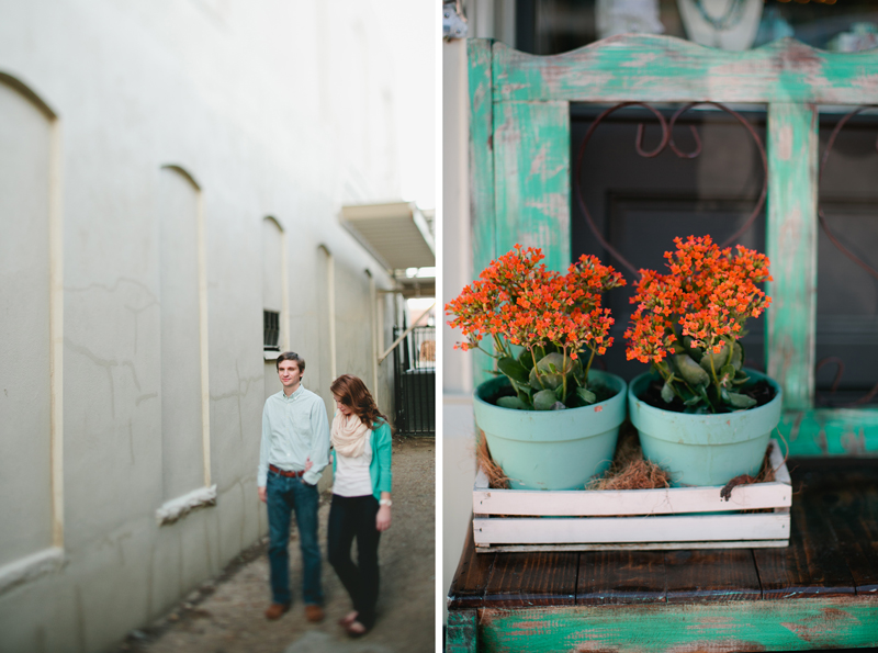
<svg viewBox="0 0 878 653">
<path fill-rule="evenodd" d="M 497 254 L 542 248 L 552 270 L 570 266 L 570 105 L 495 103 Z"/>
</svg>

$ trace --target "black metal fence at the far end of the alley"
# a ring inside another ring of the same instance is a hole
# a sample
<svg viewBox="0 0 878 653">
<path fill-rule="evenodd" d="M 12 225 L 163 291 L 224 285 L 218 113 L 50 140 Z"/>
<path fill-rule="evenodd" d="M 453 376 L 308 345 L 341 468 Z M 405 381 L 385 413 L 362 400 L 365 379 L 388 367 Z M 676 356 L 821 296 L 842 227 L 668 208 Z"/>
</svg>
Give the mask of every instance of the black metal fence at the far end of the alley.
<svg viewBox="0 0 878 653">
<path fill-rule="evenodd" d="M 405 329 L 394 327 L 396 340 Z M 393 350 L 396 429 L 436 435 L 436 327 L 415 327 Z"/>
</svg>

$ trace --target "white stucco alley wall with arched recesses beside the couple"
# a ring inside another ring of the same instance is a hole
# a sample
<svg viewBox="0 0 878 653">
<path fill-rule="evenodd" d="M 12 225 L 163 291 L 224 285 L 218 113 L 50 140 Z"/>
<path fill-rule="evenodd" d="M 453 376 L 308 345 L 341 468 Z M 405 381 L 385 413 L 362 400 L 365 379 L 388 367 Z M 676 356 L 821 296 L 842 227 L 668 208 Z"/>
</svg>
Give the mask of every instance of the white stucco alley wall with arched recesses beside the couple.
<svg viewBox="0 0 878 653">
<path fill-rule="evenodd" d="M 337 215 L 398 183 L 380 18 L 348 0 L 0 0 L 0 650 L 105 650 L 264 531 L 267 216 L 305 385 L 329 408 L 331 352 L 371 382 L 365 271 L 391 280 Z M 391 381 L 385 362 L 384 410 Z M 207 483 L 215 506 L 158 526 Z"/>
</svg>

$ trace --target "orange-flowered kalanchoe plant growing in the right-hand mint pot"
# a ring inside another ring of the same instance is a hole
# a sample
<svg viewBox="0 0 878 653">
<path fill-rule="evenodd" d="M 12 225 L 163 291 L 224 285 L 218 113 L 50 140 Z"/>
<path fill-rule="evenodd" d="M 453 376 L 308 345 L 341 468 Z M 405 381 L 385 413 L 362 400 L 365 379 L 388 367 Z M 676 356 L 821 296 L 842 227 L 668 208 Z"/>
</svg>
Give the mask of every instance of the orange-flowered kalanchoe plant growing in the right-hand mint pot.
<svg viewBox="0 0 878 653">
<path fill-rule="evenodd" d="M 652 363 L 666 404 L 680 401 L 690 413 L 751 408 L 757 401 L 743 393 L 748 376 L 738 340 L 747 318 L 772 303 L 757 285 L 772 280 L 768 258 L 740 245 L 734 254 L 720 249 L 710 236 L 674 243 L 668 274 L 641 270 L 624 333 L 628 360 Z"/>
</svg>

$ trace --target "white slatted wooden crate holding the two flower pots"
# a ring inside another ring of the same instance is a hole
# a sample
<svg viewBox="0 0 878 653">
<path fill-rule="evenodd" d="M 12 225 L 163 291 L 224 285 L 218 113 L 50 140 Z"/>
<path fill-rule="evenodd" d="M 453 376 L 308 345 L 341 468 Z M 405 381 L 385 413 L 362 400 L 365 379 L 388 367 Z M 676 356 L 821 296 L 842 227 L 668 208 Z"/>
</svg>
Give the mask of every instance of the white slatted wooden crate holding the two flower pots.
<svg viewBox="0 0 878 653">
<path fill-rule="evenodd" d="M 480 469 L 473 488 L 476 551 L 732 549 L 789 544 L 792 486 L 772 440 L 776 481 L 624 491 L 491 489 Z M 767 508 L 770 513 L 742 514 Z"/>
</svg>

